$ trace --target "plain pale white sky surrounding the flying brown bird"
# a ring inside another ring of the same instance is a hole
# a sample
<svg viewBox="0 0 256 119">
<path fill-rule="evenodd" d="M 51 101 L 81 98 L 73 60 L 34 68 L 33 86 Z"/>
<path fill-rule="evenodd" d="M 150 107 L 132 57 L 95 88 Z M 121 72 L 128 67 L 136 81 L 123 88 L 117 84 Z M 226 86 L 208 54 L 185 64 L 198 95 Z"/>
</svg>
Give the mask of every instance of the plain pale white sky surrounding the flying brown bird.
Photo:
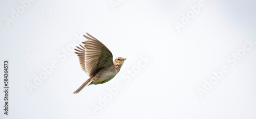
<svg viewBox="0 0 256 119">
<path fill-rule="evenodd" d="M 12 9 L 23 5 L 1 1 L 0 64 L 3 72 L 9 60 L 10 89 L 8 115 L 0 92 L 0 118 L 256 118 L 256 44 L 243 53 L 245 39 L 256 42 L 256 2 L 204 2 L 178 32 L 175 22 L 199 0 L 35 1 L 9 23 L 5 18 L 12 18 Z M 108 83 L 72 94 L 89 78 L 73 50 L 76 35 L 87 32 L 113 58 L 127 60 Z M 57 67 L 35 85 L 35 76 L 46 73 L 51 62 Z M 228 72 L 200 97 L 198 89 L 222 66 Z M 123 88 L 100 106 L 100 98 L 110 96 L 108 88 L 120 83 Z"/>
</svg>

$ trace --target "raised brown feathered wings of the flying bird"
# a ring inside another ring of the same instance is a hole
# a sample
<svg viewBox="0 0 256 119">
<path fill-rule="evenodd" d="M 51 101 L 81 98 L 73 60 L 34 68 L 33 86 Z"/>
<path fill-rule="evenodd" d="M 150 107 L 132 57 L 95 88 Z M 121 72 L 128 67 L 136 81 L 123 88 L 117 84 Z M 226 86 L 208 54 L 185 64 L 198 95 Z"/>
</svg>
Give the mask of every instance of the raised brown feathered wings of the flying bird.
<svg viewBox="0 0 256 119">
<path fill-rule="evenodd" d="M 88 40 L 82 42 L 84 46 L 77 47 L 75 49 L 76 54 L 79 57 L 80 65 L 82 69 L 91 77 L 95 76 L 99 70 L 104 67 L 108 67 L 113 64 L 113 55 L 110 50 L 99 40 L 91 36 L 85 36 Z"/>
</svg>

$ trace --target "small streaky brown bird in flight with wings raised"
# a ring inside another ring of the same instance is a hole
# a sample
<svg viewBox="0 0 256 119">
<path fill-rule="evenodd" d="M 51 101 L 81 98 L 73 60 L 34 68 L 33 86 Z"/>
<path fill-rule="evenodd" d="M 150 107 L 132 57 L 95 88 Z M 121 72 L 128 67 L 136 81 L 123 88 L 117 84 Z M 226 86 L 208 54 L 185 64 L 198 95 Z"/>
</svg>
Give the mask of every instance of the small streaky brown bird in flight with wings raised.
<svg viewBox="0 0 256 119">
<path fill-rule="evenodd" d="M 80 92 L 83 88 L 91 84 L 103 84 L 113 79 L 119 72 L 126 58 L 118 57 L 113 61 L 110 50 L 92 35 L 86 33 L 86 39 L 74 49 L 77 54 L 83 72 L 90 77 L 73 93 Z"/>
</svg>

